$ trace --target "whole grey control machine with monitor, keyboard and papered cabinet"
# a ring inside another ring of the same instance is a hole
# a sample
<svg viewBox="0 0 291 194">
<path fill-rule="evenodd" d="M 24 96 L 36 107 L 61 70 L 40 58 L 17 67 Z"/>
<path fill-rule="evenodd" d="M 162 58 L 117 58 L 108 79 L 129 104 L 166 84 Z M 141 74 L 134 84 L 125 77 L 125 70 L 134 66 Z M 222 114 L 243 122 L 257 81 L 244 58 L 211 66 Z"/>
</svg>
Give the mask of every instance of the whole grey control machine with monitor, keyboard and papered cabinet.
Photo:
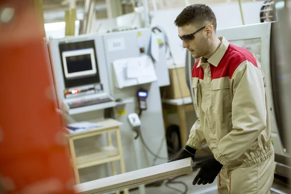
<svg viewBox="0 0 291 194">
<path fill-rule="evenodd" d="M 169 85 L 170 81 L 165 46 L 153 41 L 153 36 L 150 29 L 135 29 L 49 41 L 59 107 L 70 118 L 69 122 L 104 117 L 122 122 L 127 171 L 167 162 L 160 87 Z M 132 165 L 136 152 L 128 122 L 130 113 L 138 113 L 143 123 L 140 133 L 147 151 L 144 146 L 139 148 L 143 158 L 139 166 Z M 101 143 L 104 139 L 92 141 Z M 115 146 L 114 135 L 112 139 Z M 100 172 L 101 176 L 102 170 L 88 171 Z M 102 178 L 96 173 L 92 176 L 81 182 Z"/>
</svg>

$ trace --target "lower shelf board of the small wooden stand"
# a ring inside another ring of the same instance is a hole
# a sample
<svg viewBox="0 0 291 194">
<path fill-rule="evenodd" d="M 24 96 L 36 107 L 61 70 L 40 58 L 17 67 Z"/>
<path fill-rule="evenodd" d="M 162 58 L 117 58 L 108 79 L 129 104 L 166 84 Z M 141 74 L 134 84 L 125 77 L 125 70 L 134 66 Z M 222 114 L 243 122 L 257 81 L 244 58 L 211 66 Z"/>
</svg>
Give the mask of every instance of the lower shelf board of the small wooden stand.
<svg viewBox="0 0 291 194">
<path fill-rule="evenodd" d="M 120 160 L 118 149 L 113 146 L 106 146 L 100 150 L 83 152 L 76 157 L 76 165 L 80 169 L 116 160 Z"/>
</svg>

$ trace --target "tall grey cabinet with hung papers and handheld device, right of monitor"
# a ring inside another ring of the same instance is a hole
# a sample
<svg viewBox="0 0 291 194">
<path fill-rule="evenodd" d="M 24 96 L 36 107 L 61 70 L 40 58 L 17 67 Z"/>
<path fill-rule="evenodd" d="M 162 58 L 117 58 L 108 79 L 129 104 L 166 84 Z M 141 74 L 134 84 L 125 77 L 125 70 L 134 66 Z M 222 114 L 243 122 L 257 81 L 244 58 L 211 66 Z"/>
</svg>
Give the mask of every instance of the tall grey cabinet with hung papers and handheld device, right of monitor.
<svg viewBox="0 0 291 194">
<path fill-rule="evenodd" d="M 124 124 L 120 129 L 122 143 L 126 150 L 124 157 L 127 171 L 137 168 L 131 163 L 135 161 L 133 146 L 135 140 L 132 138 L 132 126 L 128 121 L 128 115 L 139 114 L 141 110 L 143 113 L 140 115 L 142 122 L 140 132 L 147 148 L 155 154 L 146 150 L 145 146 L 141 146 L 140 156 L 143 158 L 141 167 L 167 162 L 160 87 L 169 85 L 170 81 L 166 65 L 166 47 L 159 47 L 156 60 L 151 59 L 152 46 L 157 43 L 152 41 L 153 35 L 150 29 L 111 32 L 103 35 L 111 94 L 115 99 L 121 99 L 114 110 L 115 119 Z M 140 66 L 132 67 L 132 64 L 140 64 Z"/>
</svg>

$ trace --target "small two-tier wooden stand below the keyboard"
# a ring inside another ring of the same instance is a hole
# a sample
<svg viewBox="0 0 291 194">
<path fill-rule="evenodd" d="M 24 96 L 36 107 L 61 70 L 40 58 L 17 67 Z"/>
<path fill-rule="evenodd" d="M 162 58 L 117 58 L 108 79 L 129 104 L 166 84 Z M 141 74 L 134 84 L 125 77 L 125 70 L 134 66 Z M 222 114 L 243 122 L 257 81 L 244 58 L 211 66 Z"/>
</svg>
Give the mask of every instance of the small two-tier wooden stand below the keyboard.
<svg viewBox="0 0 291 194">
<path fill-rule="evenodd" d="M 68 139 L 70 152 L 71 152 L 71 161 L 74 169 L 74 175 L 76 184 L 80 184 L 80 175 L 79 169 L 86 168 L 89 166 L 96 166 L 104 163 L 111 163 L 112 174 L 117 175 L 116 172 L 116 162 L 119 161 L 120 172 L 126 173 L 125 163 L 123 159 L 122 151 L 122 142 L 120 135 L 120 126 L 123 123 L 114 120 L 114 119 L 105 119 L 103 121 L 97 122 L 100 127 L 95 129 L 90 129 L 82 131 L 80 133 L 66 134 Z M 112 141 L 112 132 L 115 133 L 117 148 L 113 146 Z M 106 134 L 107 144 L 102 148 L 97 148 L 93 145 L 81 146 L 79 149 L 75 150 L 74 142 L 78 139 L 83 139 L 87 137 L 92 137 L 100 134 Z M 129 189 L 124 189 L 124 194 L 129 194 Z M 116 191 L 116 194 L 120 194 L 119 191 Z"/>
</svg>

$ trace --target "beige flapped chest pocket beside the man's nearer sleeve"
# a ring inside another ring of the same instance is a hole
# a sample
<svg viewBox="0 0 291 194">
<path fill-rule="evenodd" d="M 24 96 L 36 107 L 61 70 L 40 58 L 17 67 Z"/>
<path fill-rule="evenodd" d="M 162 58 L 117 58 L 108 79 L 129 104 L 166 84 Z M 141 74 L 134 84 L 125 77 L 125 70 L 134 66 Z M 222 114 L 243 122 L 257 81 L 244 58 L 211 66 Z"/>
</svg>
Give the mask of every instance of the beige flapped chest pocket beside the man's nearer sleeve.
<svg viewBox="0 0 291 194">
<path fill-rule="evenodd" d="M 231 111 L 232 93 L 228 77 L 211 81 L 211 104 L 213 113 L 226 113 Z"/>
</svg>

